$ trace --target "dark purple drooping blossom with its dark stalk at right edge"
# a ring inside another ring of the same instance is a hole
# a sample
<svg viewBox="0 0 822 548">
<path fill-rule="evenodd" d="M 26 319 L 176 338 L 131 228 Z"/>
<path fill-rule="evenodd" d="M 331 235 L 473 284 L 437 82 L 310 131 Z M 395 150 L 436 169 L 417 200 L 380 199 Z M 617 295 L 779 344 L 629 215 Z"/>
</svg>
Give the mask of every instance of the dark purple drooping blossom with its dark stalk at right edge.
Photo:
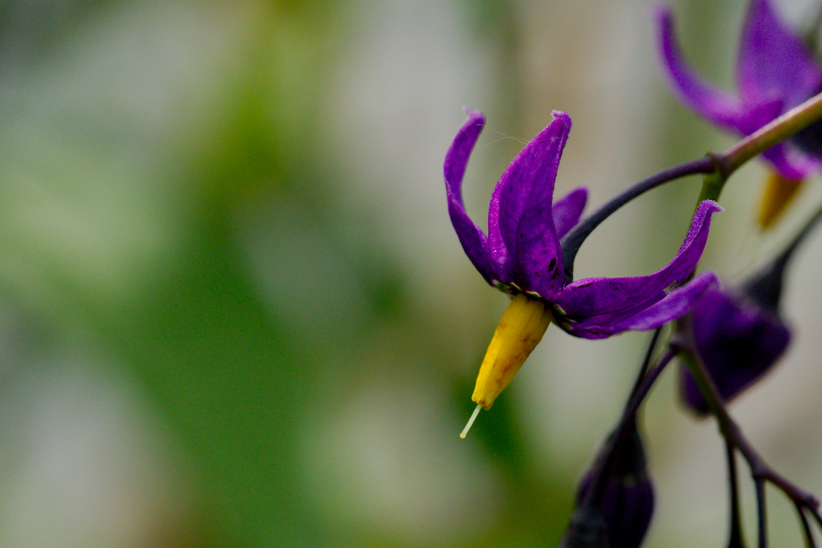
<svg viewBox="0 0 822 548">
<path fill-rule="evenodd" d="M 816 212 L 773 260 L 739 288 L 710 288 L 690 313 L 694 346 L 724 401 L 767 374 L 791 342 L 779 314 L 785 269 L 793 253 L 822 219 Z M 696 381 L 681 370 L 681 394 L 700 414 L 709 412 Z"/>
</svg>

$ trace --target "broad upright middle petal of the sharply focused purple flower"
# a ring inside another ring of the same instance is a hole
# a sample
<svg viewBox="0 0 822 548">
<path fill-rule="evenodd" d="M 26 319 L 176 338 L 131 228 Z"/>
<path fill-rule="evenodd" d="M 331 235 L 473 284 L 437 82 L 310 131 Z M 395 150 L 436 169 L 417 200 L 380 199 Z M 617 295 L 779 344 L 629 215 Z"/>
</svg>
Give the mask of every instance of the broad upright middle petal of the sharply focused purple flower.
<svg viewBox="0 0 822 548">
<path fill-rule="evenodd" d="M 554 111 L 553 116 L 502 174 L 488 208 L 488 251 L 497 272 L 510 269 L 521 289 L 547 299 L 556 297 L 565 283 L 551 205 L 556 168 L 570 132 L 566 113 Z"/>
</svg>

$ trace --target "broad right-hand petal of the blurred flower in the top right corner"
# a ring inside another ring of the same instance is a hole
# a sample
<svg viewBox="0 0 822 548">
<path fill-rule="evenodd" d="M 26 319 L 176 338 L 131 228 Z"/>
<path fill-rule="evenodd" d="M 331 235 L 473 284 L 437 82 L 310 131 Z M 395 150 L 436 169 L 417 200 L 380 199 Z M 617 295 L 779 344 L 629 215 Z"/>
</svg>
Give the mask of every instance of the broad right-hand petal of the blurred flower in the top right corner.
<svg viewBox="0 0 822 548">
<path fill-rule="evenodd" d="M 799 36 L 783 27 L 768 0 L 752 0 L 742 30 L 737 85 L 745 103 L 782 96 L 784 110 L 822 88 L 822 70 Z"/>
</svg>

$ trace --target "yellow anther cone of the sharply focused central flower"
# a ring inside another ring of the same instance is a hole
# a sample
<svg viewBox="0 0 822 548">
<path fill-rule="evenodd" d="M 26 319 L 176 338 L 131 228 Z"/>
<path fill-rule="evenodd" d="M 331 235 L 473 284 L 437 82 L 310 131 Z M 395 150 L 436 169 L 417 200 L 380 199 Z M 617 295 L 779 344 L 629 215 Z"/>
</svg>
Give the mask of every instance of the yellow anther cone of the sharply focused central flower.
<svg viewBox="0 0 822 548">
<path fill-rule="evenodd" d="M 494 337 L 479 367 L 477 385 L 473 389 L 474 402 L 490 409 L 494 399 L 520 371 L 529 354 L 543 339 L 551 323 L 551 309 L 545 302 L 517 294 L 496 326 Z"/>
</svg>

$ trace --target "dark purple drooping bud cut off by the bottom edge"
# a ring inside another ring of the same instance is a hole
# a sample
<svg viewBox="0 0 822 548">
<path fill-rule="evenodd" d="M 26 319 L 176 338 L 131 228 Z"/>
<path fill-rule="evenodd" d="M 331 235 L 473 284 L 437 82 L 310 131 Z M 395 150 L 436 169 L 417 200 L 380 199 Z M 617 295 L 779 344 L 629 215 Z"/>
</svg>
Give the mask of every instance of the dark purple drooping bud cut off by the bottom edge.
<svg viewBox="0 0 822 548">
<path fill-rule="evenodd" d="M 638 548 L 653 515 L 653 486 L 636 421 L 614 432 L 580 482 L 561 548 Z"/>
</svg>

